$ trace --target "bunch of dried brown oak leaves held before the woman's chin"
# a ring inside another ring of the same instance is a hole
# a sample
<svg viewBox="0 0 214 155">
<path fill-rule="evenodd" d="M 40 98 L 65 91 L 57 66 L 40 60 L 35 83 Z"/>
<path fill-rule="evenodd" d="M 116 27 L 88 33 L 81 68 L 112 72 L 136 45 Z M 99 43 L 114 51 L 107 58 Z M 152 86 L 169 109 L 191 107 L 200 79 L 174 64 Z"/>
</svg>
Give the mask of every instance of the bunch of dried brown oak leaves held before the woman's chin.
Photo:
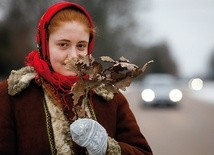
<svg viewBox="0 0 214 155">
<path fill-rule="evenodd" d="M 153 62 L 149 61 L 142 67 L 138 67 L 124 57 L 120 57 L 117 61 L 109 56 L 102 56 L 100 59 L 108 63 L 105 69 L 91 55 L 65 61 L 66 69 L 77 73 L 80 77 L 80 80 L 71 88 L 74 105 L 82 96 L 87 100 L 89 90 L 95 91 L 106 100 L 112 99 L 115 92 L 119 89 L 125 90 L 132 79 L 142 74 L 148 64 Z"/>
</svg>

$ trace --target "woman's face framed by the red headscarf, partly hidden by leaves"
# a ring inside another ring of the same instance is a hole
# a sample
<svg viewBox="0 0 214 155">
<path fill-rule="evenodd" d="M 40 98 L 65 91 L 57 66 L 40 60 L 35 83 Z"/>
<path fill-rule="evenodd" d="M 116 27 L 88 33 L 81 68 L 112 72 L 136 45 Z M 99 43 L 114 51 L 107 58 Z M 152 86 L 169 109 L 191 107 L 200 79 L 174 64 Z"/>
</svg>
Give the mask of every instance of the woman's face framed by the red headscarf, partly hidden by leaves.
<svg viewBox="0 0 214 155">
<path fill-rule="evenodd" d="M 50 62 L 55 72 L 65 76 L 74 76 L 65 68 L 67 58 L 88 53 L 89 32 L 79 22 L 65 22 L 49 35 Z"/>
</svg>

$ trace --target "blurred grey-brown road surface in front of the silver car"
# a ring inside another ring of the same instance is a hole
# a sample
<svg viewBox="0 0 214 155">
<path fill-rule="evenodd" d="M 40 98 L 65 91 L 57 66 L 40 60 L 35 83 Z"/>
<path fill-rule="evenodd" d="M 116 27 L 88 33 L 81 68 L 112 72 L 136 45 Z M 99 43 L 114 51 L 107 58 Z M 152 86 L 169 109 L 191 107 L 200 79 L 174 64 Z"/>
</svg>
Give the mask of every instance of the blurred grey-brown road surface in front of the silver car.
<svg viewBox="0 0 214 155">
<path fill-rule="evenodd" d="M 214 104 L 185 93 L 177 108 L 143 108 L 138 89 L 124 94 L 154 155 L 214 154 Z"/>
</svg>

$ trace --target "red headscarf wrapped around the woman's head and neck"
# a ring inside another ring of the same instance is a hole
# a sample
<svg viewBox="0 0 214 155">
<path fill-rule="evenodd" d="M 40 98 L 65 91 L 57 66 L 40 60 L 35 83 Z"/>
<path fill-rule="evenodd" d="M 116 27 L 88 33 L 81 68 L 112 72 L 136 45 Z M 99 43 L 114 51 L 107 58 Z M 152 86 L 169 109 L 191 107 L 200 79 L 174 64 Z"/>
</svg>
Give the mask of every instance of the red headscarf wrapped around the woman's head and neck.
<svg viewBox="0 0 214 155">
<path fill-rule="evenodd" d="M 83 12 L 89 19 L 91 27 L 94 28 L 93 21 L 89 13 L 79 4 L 72 2 L 59 2 L 51 6 L 45 14 L 41 17 L 36 41 L 38 50 L 32 51 L 26 57 L 26 65 L 33 66 L 37 72 L 38 77 L 42 77 L 48 83 L 50 83 L 56 91 L 67 93 L 70 91 L 71 86 L 79 80 L 77 76 L 64 76 L 54 72 L 50 66 L 50 56 L 48 48 L 48 25 L 52 17 L 59 11 L 65 8 L 76 8 Z M 90 35 L 88 54 L 92 53 L 94 46 L 94 34 Z"/>
</svg>

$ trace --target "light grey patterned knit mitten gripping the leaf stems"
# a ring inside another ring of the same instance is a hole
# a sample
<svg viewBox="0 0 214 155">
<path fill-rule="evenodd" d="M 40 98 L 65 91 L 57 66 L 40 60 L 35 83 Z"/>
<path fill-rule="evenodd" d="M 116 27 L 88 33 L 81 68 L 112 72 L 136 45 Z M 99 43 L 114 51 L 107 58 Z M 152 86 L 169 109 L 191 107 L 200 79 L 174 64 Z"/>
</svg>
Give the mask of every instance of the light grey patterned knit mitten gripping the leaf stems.
<svg viewBox="0 0 214 155">
<path fill-rule="evenodd" d="M 72 139 L 86 147 L 89 155 L 104 155 L 108 135 L 102 125 L 92 119 L 78 119 L 70 125 Z"/>
</svg>

